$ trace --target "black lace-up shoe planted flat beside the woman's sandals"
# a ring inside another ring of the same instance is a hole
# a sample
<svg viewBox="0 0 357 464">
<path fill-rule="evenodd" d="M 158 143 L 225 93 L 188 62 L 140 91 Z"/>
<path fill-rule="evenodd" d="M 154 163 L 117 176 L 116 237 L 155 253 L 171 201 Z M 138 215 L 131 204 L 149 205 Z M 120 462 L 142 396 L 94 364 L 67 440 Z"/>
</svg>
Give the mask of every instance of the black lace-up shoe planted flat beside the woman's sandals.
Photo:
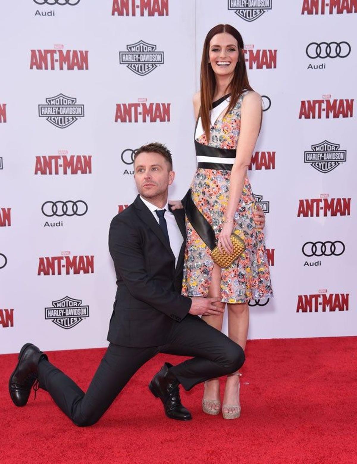
<svg viewBox="0 0 357 464">
<path fill-rule="evenodd" d="M 169 367 L 172 367 L 172 364 L 168 362 L 161 367 L 149 383 L 149 389 L 156 398 L 162 401 L 167 417 L 190 420 L 192 419 L 191 412 L 181 404 L 179 382 L 174 375 L 170 374 Z"/>
</svg>

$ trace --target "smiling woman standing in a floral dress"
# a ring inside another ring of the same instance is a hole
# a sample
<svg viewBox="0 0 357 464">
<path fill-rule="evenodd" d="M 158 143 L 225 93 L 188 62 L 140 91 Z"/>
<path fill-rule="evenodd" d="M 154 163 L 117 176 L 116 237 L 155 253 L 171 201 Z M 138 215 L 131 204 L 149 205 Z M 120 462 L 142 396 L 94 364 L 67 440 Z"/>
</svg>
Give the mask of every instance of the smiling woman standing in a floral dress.
<svg viewBox="0 0 357 464">
<path fill-rule="evenodd" d="M 187 220 L 183 294 L 220 297 L 221 306 L 227 303 L 229 338 L 244 349 L 248 301 L 271 297 L 272 288 L 264 235 L 255 223 L 255 199 L 247 177 L 261 127 L 261 97 L 249 85 L 242 36 L 228 24 L 213 27 L 206 36 L 201 91 L 193 97 L 193 105 L 198 166 L 191 184 L 191 206 L 213 228 L 220 251 L 231 253 L 230 236 L 236 230 L 246 250 L 229 267 L 219 267 L 195 224 Z M 222 330 L 223 316 L 203 319 Z M 240 415 L 239 375 L 227 377 L 222 406 L 225 419 Z M 218 379 L 205 382 L 202 407 L 208 414 L 219 413 Z"/>
</svg>

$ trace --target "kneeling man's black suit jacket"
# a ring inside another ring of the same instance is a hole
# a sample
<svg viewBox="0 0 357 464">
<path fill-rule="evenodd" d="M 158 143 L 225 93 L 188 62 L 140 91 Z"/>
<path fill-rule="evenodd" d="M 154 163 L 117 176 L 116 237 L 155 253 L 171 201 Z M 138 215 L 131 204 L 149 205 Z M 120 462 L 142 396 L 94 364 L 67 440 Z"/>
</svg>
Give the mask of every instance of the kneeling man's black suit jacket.
<svg viewBox="0 0 357 464">
<path fill-rule="evenodd" d="M 191 308 L 191 299 L 181 295 L 185 212 L 172 213 L 184 238 L 176 268 L 170 245 L 139 195 L 110 224 L 109 251 L 118 289 L 109 342 L 138 348 L 163 345 L 172 325 Z"/>
</svg>

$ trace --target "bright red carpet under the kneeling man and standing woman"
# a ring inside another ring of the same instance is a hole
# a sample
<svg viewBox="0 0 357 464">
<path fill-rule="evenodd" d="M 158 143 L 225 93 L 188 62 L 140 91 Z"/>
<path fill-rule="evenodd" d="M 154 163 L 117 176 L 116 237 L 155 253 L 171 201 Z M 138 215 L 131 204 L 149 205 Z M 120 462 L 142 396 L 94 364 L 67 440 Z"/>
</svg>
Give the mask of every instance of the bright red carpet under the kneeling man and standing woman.
<svg viewBox="0 0 357 464">
<path fill-rule="evenodd" d="M 85 389 L 103 349 L 57 351 L 50 361 Z M 242 369 L 239 419 L 201 410 L 203 387 L 181 397 L 189 422 L 167 419 L 148 381 L 148 362 L 102 419 L 78 428 L 39 390 L 27 406 L 10 400 L 16 355 L 0 356 L 0 462 L 3 463 L 357 463 L 357 337 L 257 340 Z"/>
</svg>

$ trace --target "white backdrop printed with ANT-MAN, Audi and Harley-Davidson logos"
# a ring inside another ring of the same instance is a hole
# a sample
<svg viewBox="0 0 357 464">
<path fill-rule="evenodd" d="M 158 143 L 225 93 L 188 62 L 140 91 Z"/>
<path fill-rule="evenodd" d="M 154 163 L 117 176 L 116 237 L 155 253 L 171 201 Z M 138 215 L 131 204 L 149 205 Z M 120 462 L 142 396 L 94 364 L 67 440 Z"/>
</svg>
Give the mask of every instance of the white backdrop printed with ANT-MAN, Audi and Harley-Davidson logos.
<svg viewBox="0 0 357 464">
<path fill-rule="evenodd" d="M 249 177 L 274 287 L 249 338 L 356 335 L 354 0 L 1 2 L 0 353 L 107 344 L 112 217 L 132 156 L 164 142 L 195 170 L 191 98 L 204 37 L 229 23 L 263 96 Z"/>
</svg>

